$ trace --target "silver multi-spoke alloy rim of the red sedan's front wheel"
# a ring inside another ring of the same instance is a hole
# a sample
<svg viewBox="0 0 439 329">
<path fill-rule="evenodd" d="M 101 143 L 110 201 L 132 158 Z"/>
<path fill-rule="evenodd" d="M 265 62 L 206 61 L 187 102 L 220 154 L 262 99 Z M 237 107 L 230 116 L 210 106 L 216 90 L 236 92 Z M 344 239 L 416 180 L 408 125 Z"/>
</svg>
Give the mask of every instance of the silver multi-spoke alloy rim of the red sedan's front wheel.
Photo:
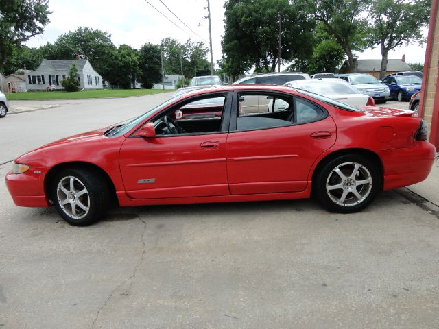
<svg viewBox="0 0 439 329">
<path fill-rule="evenodd" d="M 56 188 L 60 208 L 72 219 L 82 219 L 90 210 L 90 196 L 87 188 L 78 178 L 66 176 Z"/>
</svg>

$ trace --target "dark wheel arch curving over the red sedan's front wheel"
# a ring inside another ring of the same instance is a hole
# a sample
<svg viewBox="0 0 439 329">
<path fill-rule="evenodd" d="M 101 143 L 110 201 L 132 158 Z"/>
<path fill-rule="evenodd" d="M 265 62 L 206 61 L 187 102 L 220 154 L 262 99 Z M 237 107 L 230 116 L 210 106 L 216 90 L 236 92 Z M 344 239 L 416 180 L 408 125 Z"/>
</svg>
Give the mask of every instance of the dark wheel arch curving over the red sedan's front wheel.
<svg viewBox="0 0 439 329">
<path fill-rule="evenodd" d="M 64 162 L 60 164 L 56 164 L 56 166 L 52 167 L 47 174 L 45 175 L 45 181 L 44 181 L 44 190 L 45 195 L 47 195 L 47 198 L 51 201 L 53 201 L 53 195 L 51 195 L 51 184 L 53 184 L 54 179 L 56 178 L 56 175 L 60 173 L 61 171 L 65 169 L 84 169 L 86 171 L 91 171 L 92 173 L 95 173 L 99 175 L 104 182 L 106 182 L 106 185 L 108 186 L 108 191 L 111 196 L 111 202 L 117 202 L 119 204 L 117 195 L 116 195 L 116 188 L 115 184 L 112 182 L 110 175 L 104 171 L 101 167 L 97 166 L 96 164 L 92 164 L 90 162 Z"/>
</svg>

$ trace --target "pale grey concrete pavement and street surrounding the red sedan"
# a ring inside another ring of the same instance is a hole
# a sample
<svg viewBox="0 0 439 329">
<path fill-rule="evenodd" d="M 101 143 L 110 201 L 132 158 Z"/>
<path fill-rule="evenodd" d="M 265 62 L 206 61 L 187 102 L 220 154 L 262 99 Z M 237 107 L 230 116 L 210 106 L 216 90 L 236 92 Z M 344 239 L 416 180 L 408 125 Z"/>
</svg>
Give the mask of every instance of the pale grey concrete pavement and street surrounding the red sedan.
<svg viewBox="0 0 439 329">
<path fill-rule="evenodd" d="M 169 97 L 8 115 L 0 163 Z M 77 228 L 53 207 L 14 206 L 9 168 L 0 165 L 1 329 L 439 328 L 439 219 L 402 190 L 353 215 L 313 200 L 145 206 Z"/>
</svg>

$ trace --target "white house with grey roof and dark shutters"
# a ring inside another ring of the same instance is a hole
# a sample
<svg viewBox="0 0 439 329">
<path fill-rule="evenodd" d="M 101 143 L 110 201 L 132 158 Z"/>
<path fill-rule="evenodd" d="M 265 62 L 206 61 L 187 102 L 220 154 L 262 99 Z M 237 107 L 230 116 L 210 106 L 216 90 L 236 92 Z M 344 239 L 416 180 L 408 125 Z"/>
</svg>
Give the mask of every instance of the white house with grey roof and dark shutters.
<svg viewBox="0 0 439 329">
<path fill-rule="evenodd" d="M 25 73 L 28 90 L 64 89 L 61 80 L 75 63 L 80 73 L 80 89 L 102 89 L 102 77 L 88 60 L 42 60 L 35 71 Z"/>
</svg>

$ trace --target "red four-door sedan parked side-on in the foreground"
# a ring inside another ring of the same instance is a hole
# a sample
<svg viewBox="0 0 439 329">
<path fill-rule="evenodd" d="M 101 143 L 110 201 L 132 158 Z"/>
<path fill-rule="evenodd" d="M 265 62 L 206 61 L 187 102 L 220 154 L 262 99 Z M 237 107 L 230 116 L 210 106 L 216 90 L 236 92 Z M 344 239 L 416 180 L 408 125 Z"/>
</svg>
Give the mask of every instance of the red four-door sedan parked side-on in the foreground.
<svg viewBox="0 0 439 329">
<path fill-rule="evenodd" d="M 220 115 L 171 119 L 211 103 Z M 381 190 L 425 180 L 434 155 L 427 125 L 412 111 L 353 108 L 283 86 L 226 86 L 178 95 L 125 125 L 24 154 L 6 184 L 15 204 L 54 204 L 77 226 L 104 217 L 114 200 L 140 206 L 312 194 L 331 211 L 355 212 Z"/>
</svg>

